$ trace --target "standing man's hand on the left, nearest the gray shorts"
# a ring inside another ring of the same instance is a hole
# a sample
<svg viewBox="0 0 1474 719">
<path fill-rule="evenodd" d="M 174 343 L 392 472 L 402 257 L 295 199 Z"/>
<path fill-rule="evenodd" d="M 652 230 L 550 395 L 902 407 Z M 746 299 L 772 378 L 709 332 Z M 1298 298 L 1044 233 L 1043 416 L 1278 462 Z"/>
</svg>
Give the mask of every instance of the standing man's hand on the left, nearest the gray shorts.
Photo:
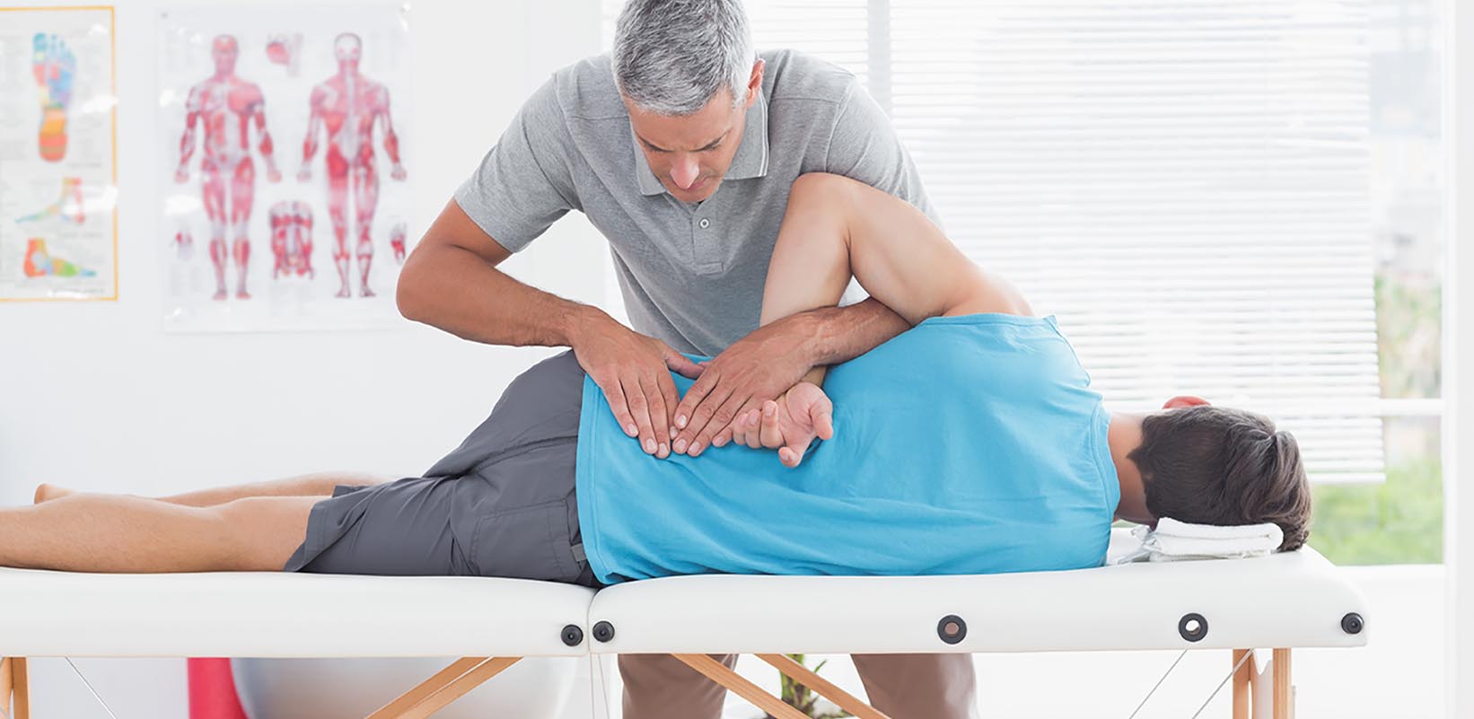
<svg viewBox="0 0 1474 719">
<path fill-rule="evenodd" d="M 573 357 L 604 392 L 625 435 L 638 436 L 646 454 L 669 457 L 671 414 L 680 395 L 666 370 L 696 377 L 702 368 L 665 342 L 609 315 L 579 323 L 572 345 Z"/>
</svg>

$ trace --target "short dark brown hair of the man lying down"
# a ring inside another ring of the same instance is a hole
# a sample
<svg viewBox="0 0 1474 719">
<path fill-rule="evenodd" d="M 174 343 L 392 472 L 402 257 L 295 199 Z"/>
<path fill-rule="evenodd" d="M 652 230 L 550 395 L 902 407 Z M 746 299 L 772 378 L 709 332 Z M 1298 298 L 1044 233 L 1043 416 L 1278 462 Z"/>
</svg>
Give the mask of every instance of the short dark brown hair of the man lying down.
<svg viewBox="0 0 1474 719">
<path fill-rule="evenodd" d="M 1187 407 L 1141 420 L 1147 511 L 1195 525 L 1257 525 L 1284 530 L 1279 551 L 1310 533 L 1310 483 L 1300 445 L 1269 418 L 1223 407 Z"/>
</svg>

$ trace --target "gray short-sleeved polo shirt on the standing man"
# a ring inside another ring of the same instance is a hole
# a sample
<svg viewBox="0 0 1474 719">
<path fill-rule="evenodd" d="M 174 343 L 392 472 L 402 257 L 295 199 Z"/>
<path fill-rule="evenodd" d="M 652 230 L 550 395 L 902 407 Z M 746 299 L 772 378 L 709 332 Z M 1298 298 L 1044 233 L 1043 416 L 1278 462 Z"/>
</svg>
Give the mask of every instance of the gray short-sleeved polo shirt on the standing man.
<svg viewBox="0 0 1474 719">
<path fill-rule="evenodd" d="M 762 57 L 762 93 L 741 144 L 700 203 L 672 197 L 650 171 L 607 55 L 554 72 L 455 202 L 510 252 L 565 212 L 584 212 L 609 240 L 634 329 L 716 355 L 758 327 L 768 259 L 800 174 L 848 175 L 937 220 L 911 156 L 855 75 L 792 50 Z"/>
</svg>

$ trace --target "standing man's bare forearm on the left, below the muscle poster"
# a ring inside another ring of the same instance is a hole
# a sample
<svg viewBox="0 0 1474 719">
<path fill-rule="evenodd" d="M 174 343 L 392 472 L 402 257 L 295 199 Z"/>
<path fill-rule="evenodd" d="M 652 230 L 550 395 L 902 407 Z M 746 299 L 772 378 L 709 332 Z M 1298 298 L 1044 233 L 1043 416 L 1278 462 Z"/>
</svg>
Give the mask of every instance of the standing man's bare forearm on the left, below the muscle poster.
<svg viewBox="0 0 1474 719">
<path fill-rule="evenodd" d="M 488 345 L 572 346 L 598 308 L 542 292 L 454 245 L 417 248 L 399 277 L 404 317 Z M 607 317 L 607 315 L 606 315 Z"/>
</svg>

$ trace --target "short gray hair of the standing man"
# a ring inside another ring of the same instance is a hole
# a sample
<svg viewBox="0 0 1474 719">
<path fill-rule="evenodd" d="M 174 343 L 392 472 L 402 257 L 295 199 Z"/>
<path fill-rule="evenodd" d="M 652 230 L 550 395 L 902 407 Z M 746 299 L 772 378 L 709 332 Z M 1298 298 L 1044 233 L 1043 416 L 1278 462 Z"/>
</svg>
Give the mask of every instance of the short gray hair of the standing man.
<svg viewBox="0 0 1474 719">
<path fill-rule="evenodd" d="M 615 27 L 615 84 L 635 106 L 694 115 L 722 88 L 747 100 L 753 50 L 741 0 L 629 0 Z"/>
</svg>

